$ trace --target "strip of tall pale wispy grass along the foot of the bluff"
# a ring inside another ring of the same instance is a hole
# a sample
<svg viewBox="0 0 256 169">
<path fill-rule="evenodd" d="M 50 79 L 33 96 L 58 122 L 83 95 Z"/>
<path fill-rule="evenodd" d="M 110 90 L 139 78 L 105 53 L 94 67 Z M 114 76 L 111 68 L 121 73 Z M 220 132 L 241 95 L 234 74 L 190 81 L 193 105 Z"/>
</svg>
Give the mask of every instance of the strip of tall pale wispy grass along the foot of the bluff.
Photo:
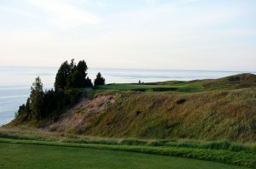
<svg viewBox="0 0 256 169">
<path fill-rule="evenodd" d="M 58 141 L 77 144 L 106 144 L 106 145 L 143 145 L 152 147 L 175 147 L 191 149 L 222 149 L 233 152 L 244 151 L 256 154 L 256 144 L 239 144 L 229 141 L 199 142 L 181 139 L 136 139 L 136 138 L 95 138 L 76 136 L 55 132 L 12 133 L 1 132 L 0 138 L 12 138 L 22 140 Z"/>
</svg>

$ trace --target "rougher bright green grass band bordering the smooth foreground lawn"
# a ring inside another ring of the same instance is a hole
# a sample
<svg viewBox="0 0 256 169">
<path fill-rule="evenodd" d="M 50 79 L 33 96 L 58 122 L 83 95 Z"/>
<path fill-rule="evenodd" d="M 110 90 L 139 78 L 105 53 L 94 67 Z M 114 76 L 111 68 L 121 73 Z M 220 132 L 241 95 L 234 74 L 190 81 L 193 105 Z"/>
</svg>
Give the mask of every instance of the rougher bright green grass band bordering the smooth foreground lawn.
<svg viewBox="0 0 256 169">
<path fill-rule="evenodd" d="M 247 166 L 256 168 L 256 155 L 245 152 L 231 152 L 226 150 L 216 149 L 192 149 L 192 148 L 177 148 L 177 147 L 153 147 L 143 145 L 106 145 L 106 144 L 73 144 L 60 142 L 46 142 L 35 140 L 18 140 L 9 138 L 0 138 L 0 143 L 9 144 L 38 144 L 50 146 L 68 146 L 90 149 L 112 149 L 131 151 L 137 153 L 147 153 L 154 155 L 171 155 L 190 159 L 198 159 L 204 161 L 217 161 L 226 164 L 237 166 Z"/>
</svg>

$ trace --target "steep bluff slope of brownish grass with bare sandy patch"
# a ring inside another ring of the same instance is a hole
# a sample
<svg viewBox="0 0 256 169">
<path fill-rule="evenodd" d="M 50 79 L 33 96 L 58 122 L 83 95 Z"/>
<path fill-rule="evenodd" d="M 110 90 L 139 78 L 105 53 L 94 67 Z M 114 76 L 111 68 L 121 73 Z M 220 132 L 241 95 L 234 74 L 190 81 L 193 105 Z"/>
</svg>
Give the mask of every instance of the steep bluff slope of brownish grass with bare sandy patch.
<svg viewBox="0 0 256 169">
<path fill-rule="evenodd" d="M 47 126 L 114 138 L 256 141 L 256 88 L 202 93 L 119 92 L 84 99 Z"/>
</svg>

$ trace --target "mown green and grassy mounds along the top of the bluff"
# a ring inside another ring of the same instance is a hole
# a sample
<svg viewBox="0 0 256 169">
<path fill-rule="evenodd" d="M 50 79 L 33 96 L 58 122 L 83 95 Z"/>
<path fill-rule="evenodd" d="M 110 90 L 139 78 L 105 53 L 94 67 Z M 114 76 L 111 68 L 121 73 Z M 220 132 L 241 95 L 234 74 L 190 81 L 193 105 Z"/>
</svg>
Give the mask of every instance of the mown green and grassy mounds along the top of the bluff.
<svg viewBox="0 0 256 169">
<path fill-rule="evenodd" d="M 195 81 L 167 81 L 167 82 L 147 82 L 147 83 L 113 83 L 100 87 L 97 90 L 120 90 L 120 91 L 140 91 L 140 92 L 177 92 L 195 93 L 203 91 L 215 91 L 222 89 L 236 89 L 243 87 L 256 87 L 256 76 L 253 74 L 240 74 L 227 76 L 212 80 Z"/>
</svg>

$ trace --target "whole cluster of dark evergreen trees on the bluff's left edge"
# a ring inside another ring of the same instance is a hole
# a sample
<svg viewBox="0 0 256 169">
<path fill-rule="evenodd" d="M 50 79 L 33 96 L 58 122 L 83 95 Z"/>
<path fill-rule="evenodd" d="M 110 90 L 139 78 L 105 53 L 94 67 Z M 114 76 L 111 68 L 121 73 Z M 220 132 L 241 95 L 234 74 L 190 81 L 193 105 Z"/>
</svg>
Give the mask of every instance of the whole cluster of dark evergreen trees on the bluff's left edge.
<svg viewBox="0 0 256 169">
<path fill-rule="evenodd" d="M 84 60 L 78 64 L 74 59 L 63 62 L 55 76 L 54 89 L 44 91 L 40 77 L 32 83 L 31 93 L 26 104 L 20 105 L 16 120 L 41 121 L 44 118 L 55 120 L 61 112 L 76 104 L 84 93 L 84 88 L 104 85 L 105 79 L 99 72 L 92 84 L 87 76 L 88 67 Z"/>
</svg>

